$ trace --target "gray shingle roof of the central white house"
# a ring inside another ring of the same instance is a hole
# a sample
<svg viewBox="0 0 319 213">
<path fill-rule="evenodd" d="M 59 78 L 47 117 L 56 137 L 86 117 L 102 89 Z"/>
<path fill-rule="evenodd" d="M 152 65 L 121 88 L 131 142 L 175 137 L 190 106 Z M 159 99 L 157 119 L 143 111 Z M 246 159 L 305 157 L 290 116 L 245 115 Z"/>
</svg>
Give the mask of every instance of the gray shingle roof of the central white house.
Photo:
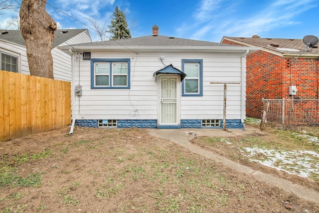
<svg viewBox="0 0 319 213">
<path fill-rule="evenodd" d="M 234 46 L 230 44 L 191 40 L 163 35 L 149 35 L 109 41 L 75 44 L 72 46 Z"/>
</svg>

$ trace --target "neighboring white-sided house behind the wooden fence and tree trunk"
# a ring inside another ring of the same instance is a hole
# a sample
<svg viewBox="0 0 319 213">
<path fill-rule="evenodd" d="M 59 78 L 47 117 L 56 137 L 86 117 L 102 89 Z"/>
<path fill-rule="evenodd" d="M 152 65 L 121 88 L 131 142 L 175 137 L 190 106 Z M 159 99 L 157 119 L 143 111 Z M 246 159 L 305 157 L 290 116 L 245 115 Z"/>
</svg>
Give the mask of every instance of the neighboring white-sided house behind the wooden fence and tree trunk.
<svg viewBox="0 0 319 213">
<path fill-rule="evenodd" d="M 53 76 L 71 81 L 71 56 L 57 46 L 92 42 L 87 29 L 58 29 L 52 44 Z M 30 74 L 25 41 L 20 30 L 0 30 L 0 70 Z"/>
</svg>

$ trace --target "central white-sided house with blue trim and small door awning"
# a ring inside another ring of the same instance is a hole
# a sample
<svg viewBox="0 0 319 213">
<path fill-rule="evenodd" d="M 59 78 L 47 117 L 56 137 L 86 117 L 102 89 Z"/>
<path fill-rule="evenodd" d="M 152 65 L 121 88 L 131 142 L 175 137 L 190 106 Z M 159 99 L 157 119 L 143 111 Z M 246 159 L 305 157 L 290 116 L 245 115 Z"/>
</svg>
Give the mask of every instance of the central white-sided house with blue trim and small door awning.
<svg viewBox="0 0 319 213">
<path fill-rule="evenodd" d="M 222 128 L 223 82 L 238 82 L 226 127 L 244 128 L 246 55 L 259 48 L 156 33 L 58 48 L 72 55 L 72 125 Z"/>
</svg>

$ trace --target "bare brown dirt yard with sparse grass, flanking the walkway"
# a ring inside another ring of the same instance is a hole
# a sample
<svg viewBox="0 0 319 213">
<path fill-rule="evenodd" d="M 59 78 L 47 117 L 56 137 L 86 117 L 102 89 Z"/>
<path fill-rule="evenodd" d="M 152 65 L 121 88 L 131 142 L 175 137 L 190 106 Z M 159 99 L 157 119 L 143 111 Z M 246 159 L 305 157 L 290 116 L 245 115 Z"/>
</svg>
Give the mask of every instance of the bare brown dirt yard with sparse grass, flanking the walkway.
<svg viewBox="0 0 319 213">
<path fill-rule="evenodd" d="M 319 213 L 314 203 L 145 129 L 69 130 L 0 142 L 2 213 Z M 319 192 L 316 179 L 248 161 L 235 143 L 211 141 L 194 138 L 192 144 Z"/>
</svg>

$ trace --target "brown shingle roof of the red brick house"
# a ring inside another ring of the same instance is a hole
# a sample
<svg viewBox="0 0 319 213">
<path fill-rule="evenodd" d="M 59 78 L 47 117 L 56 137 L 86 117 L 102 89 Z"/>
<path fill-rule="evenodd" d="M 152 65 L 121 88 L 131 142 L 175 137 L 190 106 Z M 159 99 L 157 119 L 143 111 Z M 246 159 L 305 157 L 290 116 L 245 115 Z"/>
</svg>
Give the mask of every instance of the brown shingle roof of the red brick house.
<svg viewBox="0 0 319 213">
<path fill-rule="evenodd" d="M 258 46 L 264 49 L 277 51 L 280 53 L 303 54 L 305 55 L 306 45 L 303 39 L 287 39 L 287 38 L 260 38 L 253 37 L 224 37 L 223 39 L 236 40 L 246 46 Z M 318 46 L 318 45 L 317 45 Z M 299 51 L 296 51 L 299 50 Z M 319 48 L 313 47 L 307 49 L 307 54 L 319 54 Z"/>
</svg>

